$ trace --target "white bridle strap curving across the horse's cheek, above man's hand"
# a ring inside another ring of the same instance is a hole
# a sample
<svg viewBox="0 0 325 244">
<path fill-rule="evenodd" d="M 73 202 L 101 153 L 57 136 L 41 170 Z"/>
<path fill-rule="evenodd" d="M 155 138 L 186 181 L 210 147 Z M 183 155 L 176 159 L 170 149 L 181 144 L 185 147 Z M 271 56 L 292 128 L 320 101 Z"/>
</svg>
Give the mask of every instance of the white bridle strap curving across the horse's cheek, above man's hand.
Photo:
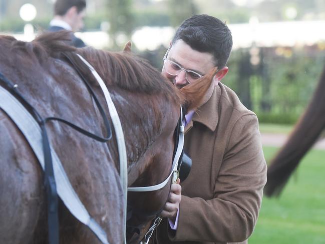
<svg viewBox="0 0 325 244">
<path fill-rule="evenodd" d="M 179 158 L 180 158 L 180 156 L 182 154 L 183 147 L 184 147 L 184 125 L 183 125 L 183 122 L 182 122 L 182 118 L 183 118 L 183 112 L 182 112 L 182 107 L 181 107 L 181 123 L 182 124 L 180 126 L 177 150 L 176 150 L 176 153 L 175 153 L 172 169 L 171 169 L 171 172 L 170 172 L 169 176 L 163 182 L 161 182 L 158 185 L 143 186 L 143 187 L 128 187 L 128 191 L 137 191 L 137 192 L 139 192 L 139 191 L 140 192 L 155 191 L 155 190 L 159 190 L 159 189 L 163 188 L 167 184 L 170 177 L 177 170 L 178 161 L 179 161 Z"/>
</svg>

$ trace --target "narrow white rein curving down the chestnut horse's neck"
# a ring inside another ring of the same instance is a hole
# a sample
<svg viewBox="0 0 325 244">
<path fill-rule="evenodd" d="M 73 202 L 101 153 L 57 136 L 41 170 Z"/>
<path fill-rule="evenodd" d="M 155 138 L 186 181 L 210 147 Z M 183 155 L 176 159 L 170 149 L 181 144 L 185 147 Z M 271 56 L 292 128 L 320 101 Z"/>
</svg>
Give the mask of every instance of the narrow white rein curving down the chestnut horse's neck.
<svg viewBox="0 0 325 244">
<path fill-rule="evenodd" d="M 114 103 L 112 101 L 111 95 L 107 90 L 107 87 L 102 80 L 102 78 L 99 76 L 99 74 L 96 72 L 96 70 L 91 66 L 87 60 L 85 60 L 82 56 L 77 54 L 78 57 L 88 66 L 90 71 L 92 72 L 93 76 L 96 78 L 97 82 L 99 83 L 100 87 L 102 88 L 102 91 L 104 93 L 106 103 L 108 106 L 108 110 L 112 119 L 112 123 L 114 126 L 115 134 L 116 134 L 116 140 L 118 145 L 118 151 L 119 151 L 119 158 L 120 158 L 120 181 L 121 186 L 124 193 L 124 215 L 125 218 L 123 219 L 123 233 L 126 232 L 126 212 L 127 212 L 127 187 L 128 187 L 128 162 L 127 162 L 127 156 L 126 156 L 126 147 L 125 147 L 125 140 L 124 140 L 124 134 L 123 129 L 121 125 L 121 121 L 119 118 L 119 115 L 116 111 L 116 108 L 114 106 Z M 124 243 L 126 243 L 126 237 L 124 235 Z"/>
</svg>

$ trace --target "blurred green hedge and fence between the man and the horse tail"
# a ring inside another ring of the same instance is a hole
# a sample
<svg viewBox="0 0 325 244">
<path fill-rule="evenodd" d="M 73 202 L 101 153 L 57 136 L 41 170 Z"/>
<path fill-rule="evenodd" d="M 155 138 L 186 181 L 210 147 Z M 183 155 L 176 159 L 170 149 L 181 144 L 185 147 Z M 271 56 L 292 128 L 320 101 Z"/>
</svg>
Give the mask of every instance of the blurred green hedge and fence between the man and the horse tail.
<svg viewBox="0 0 325 244">
<path fill-rule="evenodd" d="M 314 45 L 237 50 L 229 60 L 230 72 L 223 83 L 258 115 L 260 122 L 295 123 L 325 65 L 321 49 Z"/>
</svg>

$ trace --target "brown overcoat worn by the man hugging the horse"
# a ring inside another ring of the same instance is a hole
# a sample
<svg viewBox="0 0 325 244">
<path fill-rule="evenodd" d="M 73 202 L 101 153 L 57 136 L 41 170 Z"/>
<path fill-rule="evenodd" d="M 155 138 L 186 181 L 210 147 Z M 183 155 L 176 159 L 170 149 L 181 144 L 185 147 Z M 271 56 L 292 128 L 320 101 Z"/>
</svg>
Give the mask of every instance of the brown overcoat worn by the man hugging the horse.
<svg viewBox="0 0 325 244">
<path fill-rule="evenodd" d="M 192 169 L 181 182 L 178 227 L 164 219 L 157 243 L 247 243 L 266 183 L 256 115 L 219 83 L 185 130 L 185 152 Z"/>
</svg>

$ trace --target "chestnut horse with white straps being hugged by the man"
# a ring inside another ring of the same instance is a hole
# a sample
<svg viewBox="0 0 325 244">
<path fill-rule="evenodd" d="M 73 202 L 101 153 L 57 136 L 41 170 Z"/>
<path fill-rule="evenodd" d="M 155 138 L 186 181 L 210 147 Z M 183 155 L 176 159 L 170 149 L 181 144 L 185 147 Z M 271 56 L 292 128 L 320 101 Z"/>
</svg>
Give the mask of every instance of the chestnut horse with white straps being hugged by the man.
<svg viewBox="0 0 325 244">
<path fill-rule="evenodd" d="M 42 117 L 60 117 L 102 135 L 105 128 L 101 114 L 64 55 L 80 54 L 104 80 L 118 111 L 126 143 L 128 185 L 162 182 L 171 171 L 179 107 L 183 104 L 193 109 L 200 104 L 216 69 L 178 90 L 146 61 L 129 52 L 75 49 L 64 44 L 68 36 L 43 34 L 32 42 L 0 36 L 0 72 Z M 85 66 L 77 66 L 108 115 L 96 80 Z M 1 82 L 0 86 L 4 87 Z M 89 214 L 104 229 L 110 243 L 123 243 L 126 216 L 114 131 L 112 139 L 102 143 L 57 121 L 50 121 L 46 128 L 50 144 Z M 24 135 L 2 109 L 0 135 L 0 242 L 46 243 L 44 172 Z M 128 204 L 134 209 L 128 223 L 140 226 L 138 234 L 127 233 L 128 243 L 142 239 L 155 217 L 153 213 L 159 213 L 164 206 L 170 185 L 171 180 L 160 190 L 128 195 Z M 61 200 L 59 224 L 60 243 L 100 243 Z"/>
</svg>

